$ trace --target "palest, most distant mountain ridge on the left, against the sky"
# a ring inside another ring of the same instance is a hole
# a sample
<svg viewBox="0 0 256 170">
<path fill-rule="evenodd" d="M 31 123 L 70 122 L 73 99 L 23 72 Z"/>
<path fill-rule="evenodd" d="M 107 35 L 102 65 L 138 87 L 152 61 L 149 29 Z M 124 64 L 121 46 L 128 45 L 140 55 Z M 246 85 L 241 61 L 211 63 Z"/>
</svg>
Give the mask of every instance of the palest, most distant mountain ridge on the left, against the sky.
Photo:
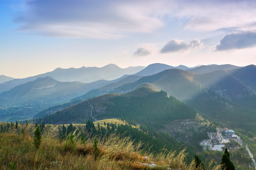
<svg viewBox="0 0 256 170">
<path fill-rule="evenodd" d="M 114 80 L 124 75 L 135 74 L 144 69 L 143 66 L 119 68 L 115 64 L 109 64 L 104 67 L 82 67 L 82 68 L 56 68 L 51 72 L 39 74 L 37 76 L 30 76 L 27 78 L 13 79 L 0 84 L 0 93 L 8 91 L 17 85 L 22 85 L 29 81 L 34 81 L 39 77 L 50 76 L 57 81 L 81 83 L 91 83 L 97 80 Z"/>
</svg>

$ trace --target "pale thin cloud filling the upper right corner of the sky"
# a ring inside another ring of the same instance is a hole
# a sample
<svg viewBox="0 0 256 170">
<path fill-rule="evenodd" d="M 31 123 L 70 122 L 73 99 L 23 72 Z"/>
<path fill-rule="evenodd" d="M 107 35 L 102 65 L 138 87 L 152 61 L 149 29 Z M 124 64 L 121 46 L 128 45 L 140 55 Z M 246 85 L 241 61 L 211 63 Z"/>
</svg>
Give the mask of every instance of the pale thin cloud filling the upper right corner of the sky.
<svg viewBox="0 0 256 170">
<path fill-rule="evenodd" d="M 188 18 L 186 29 L 214 31 L 222 28 L 248 29 L 256 25 L 254 0 L 184 0 L 176 15 Z"/>
</svg>

